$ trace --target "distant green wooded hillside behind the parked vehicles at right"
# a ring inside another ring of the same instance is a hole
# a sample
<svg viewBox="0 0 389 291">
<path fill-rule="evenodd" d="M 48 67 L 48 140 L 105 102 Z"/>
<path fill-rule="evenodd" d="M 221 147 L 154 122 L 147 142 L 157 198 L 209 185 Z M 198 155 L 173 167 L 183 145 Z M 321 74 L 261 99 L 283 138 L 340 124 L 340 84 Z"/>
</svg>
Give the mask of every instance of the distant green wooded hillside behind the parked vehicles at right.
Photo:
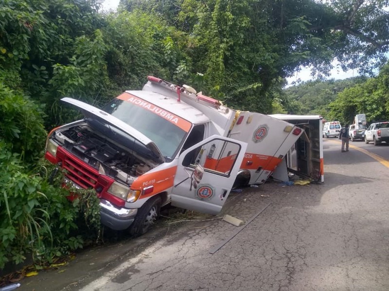
<svg viewBox="0 0 389 291">
<path fill-rule="evenodd" d="M 352 124 L 360 113 L 369 123 L 389 120 L 389 64 L 373 78 L 304 82 L 285 89 L 281 99 L 288 113 L 319 114 L 341 124 Z"/>
</svg>

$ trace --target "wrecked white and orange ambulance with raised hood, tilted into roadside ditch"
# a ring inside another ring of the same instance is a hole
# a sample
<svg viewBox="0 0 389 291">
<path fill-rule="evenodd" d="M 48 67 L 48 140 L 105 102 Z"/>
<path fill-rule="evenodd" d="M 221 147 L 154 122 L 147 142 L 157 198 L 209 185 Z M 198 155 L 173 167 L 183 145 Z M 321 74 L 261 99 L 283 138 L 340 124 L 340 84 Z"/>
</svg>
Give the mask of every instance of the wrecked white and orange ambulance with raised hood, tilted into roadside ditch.
<svg viewBox="0 0 389 291">
<path fill-rule="evenodd" d="M 262 184 L 304 132 L 261 113 L 149 76 L 102 109 L 69 97 L 84 118 L 53 129 L 45 158 L 66 182 L 93 188 L 101 222 L 134 236 L 161 207 L 217 214 L 233 187 Z"/>
</svg>

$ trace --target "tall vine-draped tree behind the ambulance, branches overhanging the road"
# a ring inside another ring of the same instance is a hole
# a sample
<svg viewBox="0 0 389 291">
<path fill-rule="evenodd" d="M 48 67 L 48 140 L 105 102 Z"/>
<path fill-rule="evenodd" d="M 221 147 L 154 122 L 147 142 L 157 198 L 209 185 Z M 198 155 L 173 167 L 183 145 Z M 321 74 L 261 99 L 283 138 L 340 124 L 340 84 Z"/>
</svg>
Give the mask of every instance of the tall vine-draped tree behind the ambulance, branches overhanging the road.
<svg viewBox="0 0 389 291">
<path fill-rule="evenodd" d="M 122 0 L 151 9 L 188 34 L 186 52 L 201 90 L 240 109 L 271 112 L 274 87 L 301 65 L 319 76 L 337 58 L 361 73 L 386 61 L 387 0 Z M 365 52 L 362 54 L 362 52 Z M 376 60 L 371 62 L 369 60 Z"/>
</svg>

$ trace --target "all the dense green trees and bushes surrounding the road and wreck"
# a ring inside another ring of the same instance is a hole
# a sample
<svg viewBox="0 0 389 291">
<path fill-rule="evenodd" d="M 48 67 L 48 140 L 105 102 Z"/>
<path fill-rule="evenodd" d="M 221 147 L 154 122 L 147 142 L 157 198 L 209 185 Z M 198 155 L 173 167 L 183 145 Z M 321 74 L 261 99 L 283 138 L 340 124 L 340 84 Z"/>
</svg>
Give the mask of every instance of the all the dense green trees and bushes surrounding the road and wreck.
<svg viewBox="0 0 389 291">
<path fill-rule="evenodd" d="M 361 73 L 387 62 L 387 1 L 329 2 L 122 0 L 101 13 L 98 0 L 0 0 L 0 268 L 100 235 L 93 192 L 62 188 L 42 162 L 47 131 L 77 118 L 62 97 L 100 106 L 155 75 L 242 110 L 387 118 L 388 68 L 282 91 L 300 65 L 324 76 L 334 57 Z"/>
</svg>

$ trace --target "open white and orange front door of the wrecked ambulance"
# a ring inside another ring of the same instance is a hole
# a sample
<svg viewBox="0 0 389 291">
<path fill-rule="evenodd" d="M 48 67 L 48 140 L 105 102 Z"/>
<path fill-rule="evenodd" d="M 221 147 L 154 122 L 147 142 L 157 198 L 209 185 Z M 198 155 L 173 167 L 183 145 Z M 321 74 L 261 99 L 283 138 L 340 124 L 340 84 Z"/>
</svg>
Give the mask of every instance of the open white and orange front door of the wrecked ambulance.
<svg viewBox="0 0 389 291">
<path fill-rule="evenodd" d="M 171 194 L 176 207 L 217 214 L 230 194 L 247 143 L 212 135 L 178 158 Z"/>
</svg>

